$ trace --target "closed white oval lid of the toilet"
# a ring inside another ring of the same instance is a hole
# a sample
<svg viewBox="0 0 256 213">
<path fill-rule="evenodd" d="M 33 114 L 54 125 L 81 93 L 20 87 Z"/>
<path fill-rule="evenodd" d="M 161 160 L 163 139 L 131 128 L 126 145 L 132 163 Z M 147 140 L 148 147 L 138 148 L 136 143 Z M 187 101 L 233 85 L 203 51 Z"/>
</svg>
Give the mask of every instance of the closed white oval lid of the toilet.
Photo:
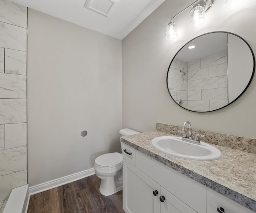
<svg viewBox="0 0 256 213">
<path fill-rule="evenodd" d="M 100 155 L 95 159 L 95 163 L 99 166 L 110 167 L 116 166 L 123 161 L 123 155 L 118 152 L 107 153 L 104 155 Z"/>
</svg>

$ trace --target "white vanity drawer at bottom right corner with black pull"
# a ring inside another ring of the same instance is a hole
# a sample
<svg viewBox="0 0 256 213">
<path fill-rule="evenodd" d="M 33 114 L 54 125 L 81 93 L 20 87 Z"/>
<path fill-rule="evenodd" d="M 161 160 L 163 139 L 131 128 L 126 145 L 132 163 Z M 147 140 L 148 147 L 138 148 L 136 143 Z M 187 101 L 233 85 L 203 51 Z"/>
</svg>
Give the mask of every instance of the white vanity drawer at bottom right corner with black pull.
<svg viewBox="0 0 256 213">
<path fill-rule="evenodd" d="M 206 187 L 207 213 L 218 213 L 222 207 L 225 213 L 254 213 L 254 211 L 232 201 L 228 197 Z"/>
</svg>

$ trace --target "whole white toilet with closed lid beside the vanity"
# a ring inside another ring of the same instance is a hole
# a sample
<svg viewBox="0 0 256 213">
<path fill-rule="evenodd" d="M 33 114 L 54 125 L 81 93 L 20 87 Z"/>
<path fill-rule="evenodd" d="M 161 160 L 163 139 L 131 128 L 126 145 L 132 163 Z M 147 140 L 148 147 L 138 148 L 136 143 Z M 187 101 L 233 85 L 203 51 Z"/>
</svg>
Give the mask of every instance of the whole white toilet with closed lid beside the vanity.
<svg viewBox="0 0 256 213">
<path fill-rule="evenodd" d="M 132 129 L 121 129 L 119 131 L 120 142 L 121 137 L 126 135 L 134 135 L 139 133 Z M 123 151 L 123 150 L 122 150 Z M 100 181 L 100 193 L 102 195 L 108 196 L 112 195 L 123 188 L 123 155 L 114 152 L 100 155 L 94 161 L 94 170 L 97 177 L 101 179 Z"/>
</svg>

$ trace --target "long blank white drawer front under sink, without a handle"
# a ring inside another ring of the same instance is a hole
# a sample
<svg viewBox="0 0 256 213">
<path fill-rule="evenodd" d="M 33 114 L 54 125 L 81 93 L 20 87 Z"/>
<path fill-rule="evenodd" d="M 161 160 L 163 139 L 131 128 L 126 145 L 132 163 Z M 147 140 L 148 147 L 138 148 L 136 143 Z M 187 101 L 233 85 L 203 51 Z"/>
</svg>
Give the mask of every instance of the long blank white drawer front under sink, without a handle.
<svg viewBox="0 0 256 213">
<path fill-rule="evenodd" d="M 198 213 L 206 213 L 206 186 L 136 151 L 136 167 Z"/>
</svg>

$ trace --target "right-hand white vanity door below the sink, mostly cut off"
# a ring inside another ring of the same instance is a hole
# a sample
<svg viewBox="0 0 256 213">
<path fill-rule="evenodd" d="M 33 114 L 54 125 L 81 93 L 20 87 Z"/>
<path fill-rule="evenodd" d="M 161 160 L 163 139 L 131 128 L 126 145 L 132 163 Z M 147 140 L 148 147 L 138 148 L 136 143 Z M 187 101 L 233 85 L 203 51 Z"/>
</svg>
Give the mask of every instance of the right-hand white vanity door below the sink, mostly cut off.
<svg viewBox="0 0 256 213">
<path fill-rule="evenodd" d="M 197 213 L 163 187 L 161 187 L 160 196 L 164 196 L 164 202 L 161 202 L 161 213 Z"/>
</svg>

